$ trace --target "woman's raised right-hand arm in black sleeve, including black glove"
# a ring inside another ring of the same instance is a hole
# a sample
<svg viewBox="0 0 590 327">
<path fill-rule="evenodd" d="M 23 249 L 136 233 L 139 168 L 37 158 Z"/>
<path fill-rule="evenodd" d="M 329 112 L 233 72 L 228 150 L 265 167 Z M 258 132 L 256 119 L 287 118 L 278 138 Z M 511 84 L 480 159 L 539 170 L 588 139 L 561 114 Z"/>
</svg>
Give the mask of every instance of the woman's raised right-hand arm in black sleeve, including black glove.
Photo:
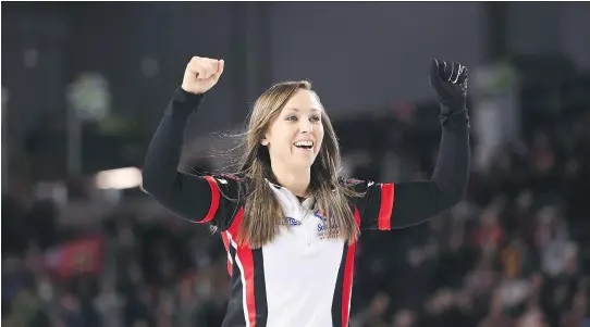
<svg viewBox="0 0 590 327">
<path fill-rule="evenodd" d="M 433 60 L 430 84 L 440 101 L 442 127 L 439 159 L 430 180 L 359 185 L 362 229 L 389 230 L 417 225 L 459 202 L 469 179 L 467 67 Z"/>
</svg>

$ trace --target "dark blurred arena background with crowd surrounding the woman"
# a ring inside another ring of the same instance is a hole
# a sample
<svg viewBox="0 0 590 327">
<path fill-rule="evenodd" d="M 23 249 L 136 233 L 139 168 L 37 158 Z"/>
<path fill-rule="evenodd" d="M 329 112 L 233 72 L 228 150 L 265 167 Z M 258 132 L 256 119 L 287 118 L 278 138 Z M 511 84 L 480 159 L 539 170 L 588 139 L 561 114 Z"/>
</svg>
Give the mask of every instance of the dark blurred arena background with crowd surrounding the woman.
<svg viewBox="0 0 590 327">
<path fill-rule="evenodd" d="M 219 168 L 249 104 L 314 83 L 344 175 L 428 178 L 431 58 L 470 70 L 465 201 L 365 232 L 351 327 L 590 326 L 590 3 L 2 2 L 2 325 L 220 326 L 220 238 L 142 192 L 192 55 L 225 72 L 184 169 Z M 296 273 L 296 272 L 294 272 Z"/>
</svg>

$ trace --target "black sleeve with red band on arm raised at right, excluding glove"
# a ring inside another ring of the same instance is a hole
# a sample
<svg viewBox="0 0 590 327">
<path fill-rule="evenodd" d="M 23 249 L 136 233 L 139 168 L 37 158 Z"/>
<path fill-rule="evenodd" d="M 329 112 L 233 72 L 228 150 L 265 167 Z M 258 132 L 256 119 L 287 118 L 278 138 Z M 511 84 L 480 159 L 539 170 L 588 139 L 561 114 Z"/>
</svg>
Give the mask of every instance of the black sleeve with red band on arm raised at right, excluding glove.
<svg viewBox="0 0 590 327">
<path fill-rule="evenodd" d="M 355 201 L 361 229 L 390 230 L 417 225 L 459 202 L 470 169 L 469 116 L 466 111 L 441 115 L 439 159 L 430 180 L 358 183 Z"/>
</svg>

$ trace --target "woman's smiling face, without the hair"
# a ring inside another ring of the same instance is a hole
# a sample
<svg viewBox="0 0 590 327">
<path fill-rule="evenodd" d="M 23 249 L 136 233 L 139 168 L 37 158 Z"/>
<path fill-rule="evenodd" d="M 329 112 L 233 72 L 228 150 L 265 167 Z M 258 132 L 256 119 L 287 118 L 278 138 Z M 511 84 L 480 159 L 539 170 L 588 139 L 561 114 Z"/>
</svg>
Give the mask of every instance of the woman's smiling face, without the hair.
<svg viewBox="0 0 590 327">
<path fill-rule="evenodd" d="M 271 162 L 292 169 L 309 168 L 323 141 L 323 108 L 314 91 L 298 89 L 268 126 L 260 143 Z"/>
</svg>

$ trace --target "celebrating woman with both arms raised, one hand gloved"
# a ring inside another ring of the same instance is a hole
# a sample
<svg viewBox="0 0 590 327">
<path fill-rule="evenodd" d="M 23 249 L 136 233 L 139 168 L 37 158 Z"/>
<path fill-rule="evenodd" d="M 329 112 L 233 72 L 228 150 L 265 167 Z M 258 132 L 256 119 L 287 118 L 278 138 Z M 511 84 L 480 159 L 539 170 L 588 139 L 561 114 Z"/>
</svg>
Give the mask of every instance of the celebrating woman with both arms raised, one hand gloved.
<svg viewBox="0 0 590 327">
<path fill-rule="evenodd" d="M 195 56 L 186 66 L 149 147 L 144 188 L 176 215 L 221 232 L 232 277 L 223 327 L 346 327 L 360 230 L 420 224 L 463 197 L 467 68 L 432 61 L 442 125 L 437 167 L 430 180 L 394 185 L 339 177 L 336 135 L 307 81 L 280 83 L 258 98 L 238 172 L 177 172 L 188 117 L 223 65 Z"/>
</svg>

